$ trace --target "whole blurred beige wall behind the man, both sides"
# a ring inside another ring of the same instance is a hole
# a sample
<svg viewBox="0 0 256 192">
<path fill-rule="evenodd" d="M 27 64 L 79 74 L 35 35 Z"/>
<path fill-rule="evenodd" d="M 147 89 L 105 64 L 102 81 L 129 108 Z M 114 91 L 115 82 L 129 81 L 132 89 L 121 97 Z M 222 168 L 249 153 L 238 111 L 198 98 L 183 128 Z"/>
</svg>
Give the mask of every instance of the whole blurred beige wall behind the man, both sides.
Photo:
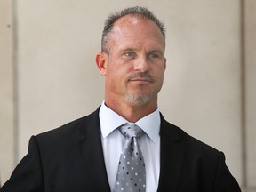
<svg viewBox="0 0 256 192">
<path fill-rule="evenodd" d="M 147 6 L 167 28 L 165 118 L 224 151 L 243 191 L 256 191 L 255 0 L 0 0 L 2 184 L 31 135 L 101 104 L 94 58 L 103 22 L 131 5 Z"/>
</svg>

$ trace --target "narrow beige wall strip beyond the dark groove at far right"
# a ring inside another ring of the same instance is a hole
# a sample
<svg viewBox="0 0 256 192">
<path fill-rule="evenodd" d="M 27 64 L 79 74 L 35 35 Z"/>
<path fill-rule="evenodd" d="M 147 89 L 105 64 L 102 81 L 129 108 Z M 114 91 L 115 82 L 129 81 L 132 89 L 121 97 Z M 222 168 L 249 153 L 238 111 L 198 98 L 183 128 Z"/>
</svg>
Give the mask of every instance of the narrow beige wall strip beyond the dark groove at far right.
<svg viewBox="0 0 256 192">
<path fill-rule="evenodd" d="M 256 1 L 245 1 L 246 182 L 256 188 Z"/>
</svg>

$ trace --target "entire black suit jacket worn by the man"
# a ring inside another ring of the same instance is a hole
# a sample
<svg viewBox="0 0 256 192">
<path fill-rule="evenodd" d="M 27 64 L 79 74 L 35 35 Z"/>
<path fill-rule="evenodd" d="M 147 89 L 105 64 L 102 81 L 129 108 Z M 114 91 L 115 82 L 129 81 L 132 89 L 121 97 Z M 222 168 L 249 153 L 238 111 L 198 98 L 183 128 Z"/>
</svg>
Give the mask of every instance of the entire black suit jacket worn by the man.
<svg viewBox="0 0 256 192">
<path fill-rule="evenodd" d="M 238 192 L 224 154 L 169 124 L 161 115 L 158 191 Z M 58 129 L 32 136 L 28 155 L 1 192 L 108 192 L 99 108 Z"/>
</svg>

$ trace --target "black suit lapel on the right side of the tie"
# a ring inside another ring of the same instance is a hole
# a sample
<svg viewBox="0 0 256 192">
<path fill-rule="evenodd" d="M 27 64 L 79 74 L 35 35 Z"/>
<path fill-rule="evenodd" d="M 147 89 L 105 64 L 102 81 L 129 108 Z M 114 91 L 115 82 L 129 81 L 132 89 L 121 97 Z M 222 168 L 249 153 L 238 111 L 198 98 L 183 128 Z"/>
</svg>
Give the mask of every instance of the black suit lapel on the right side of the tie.
<svg viewBox="0 0 256 192">
<path fill-rule="evenodd" d="M 161 115 L 160 176 L 158 191 L 176 191 L 183 164 L 184 148 L 180 134 Z"/>
</svg>

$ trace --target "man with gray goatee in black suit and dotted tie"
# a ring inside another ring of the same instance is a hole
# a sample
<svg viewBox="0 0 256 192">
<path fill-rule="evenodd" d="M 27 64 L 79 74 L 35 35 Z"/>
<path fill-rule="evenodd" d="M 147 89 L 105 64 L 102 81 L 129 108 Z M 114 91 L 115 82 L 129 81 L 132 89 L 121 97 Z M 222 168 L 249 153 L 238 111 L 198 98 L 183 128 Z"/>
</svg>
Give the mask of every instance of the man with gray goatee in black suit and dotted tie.
<svg viewBox="0 0 256 192">
<path fill-rule="evenodd" d="M 31 137 L 28 155 L 0 191 L 241 191 L 222 152 L 158 111 L 166 68 L 163 23 L 142 7 L 116 12 L 105 23 L 101 45 L 100 108 Z M 133 135 L 125 137 L 131 127 Z"/>
</svg>

